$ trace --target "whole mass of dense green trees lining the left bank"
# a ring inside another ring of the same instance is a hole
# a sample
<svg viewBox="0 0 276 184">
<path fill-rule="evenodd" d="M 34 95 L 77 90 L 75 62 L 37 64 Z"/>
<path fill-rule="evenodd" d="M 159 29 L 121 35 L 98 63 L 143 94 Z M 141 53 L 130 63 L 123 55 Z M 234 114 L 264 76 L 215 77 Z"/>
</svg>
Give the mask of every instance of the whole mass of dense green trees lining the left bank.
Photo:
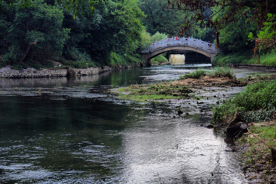
<svg viewBox="0 0 276 184">
<path fill-rule="evenodd" d="M 40 68 L 56 58 L 71 67 L 144 62 L 131 54 L 150 44 L 135 0 L 45 2 L 0 1 L 1 66 Z"/>
</svg>

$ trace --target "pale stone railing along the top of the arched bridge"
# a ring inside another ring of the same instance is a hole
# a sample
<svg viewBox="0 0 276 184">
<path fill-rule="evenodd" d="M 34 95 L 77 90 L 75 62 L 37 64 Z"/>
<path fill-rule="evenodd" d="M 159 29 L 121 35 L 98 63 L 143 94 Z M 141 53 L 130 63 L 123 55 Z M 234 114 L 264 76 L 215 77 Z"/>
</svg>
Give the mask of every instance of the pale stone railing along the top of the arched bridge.
<svg viewBox="0 0 276 184">
<path fill-rule="evenodd" d="M 154 52 L 155 50 L 158 49 L 163 49 L 166 47 L 174 47 L 174 46 L 189 46 L 193 48 L 198 48 L 201 50 L 204 50 L 209 53 L 216 53 L 218 52 L 215 44 L 202 41 L 201 39 L 195 39 L 192 37 L 171 37 L 171 38 L 165 38 L 160 41 L 155 41 L 148 47 L 145 47 L 144 49 L 141 50 L 142 53 L 149 53 L 149 52 Z"/>
</svg>

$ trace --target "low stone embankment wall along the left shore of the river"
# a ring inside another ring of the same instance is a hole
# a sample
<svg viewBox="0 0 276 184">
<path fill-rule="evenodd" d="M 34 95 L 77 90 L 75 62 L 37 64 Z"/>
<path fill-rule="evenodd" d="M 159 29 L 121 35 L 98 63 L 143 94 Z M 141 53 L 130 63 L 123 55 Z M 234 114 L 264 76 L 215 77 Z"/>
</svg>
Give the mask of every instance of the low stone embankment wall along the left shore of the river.
<svg viewBox="0 0 276 184">
<path fill-rule="evenodd" d="M 120 67 L 95 67 L 95 68 L 72 68 L 75 72 L 76 76 L 85 76 L 85 75 L 95 75 L 104 73 L 111 70 L 118 70 L 122 68 L 129 68 L 132 66 L 120 66 Z M 72 73 L 72 70 L 70 72 Z M 0 69 L 0 78 L 35 78 L 35 77 L 66 77 L 68 76 L 69 70 L 34 70 L 34 69 L 26 69 L 26 70 L 7 70 L 6 68 Z"/>
</svg>

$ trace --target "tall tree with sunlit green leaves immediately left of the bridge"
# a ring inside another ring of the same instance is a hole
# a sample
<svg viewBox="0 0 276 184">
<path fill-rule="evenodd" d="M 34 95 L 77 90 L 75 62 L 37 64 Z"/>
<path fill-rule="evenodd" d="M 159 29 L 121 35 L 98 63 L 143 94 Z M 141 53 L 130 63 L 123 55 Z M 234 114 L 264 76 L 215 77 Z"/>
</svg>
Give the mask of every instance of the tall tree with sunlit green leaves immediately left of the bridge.
<svg viewBox="0 0 276 184">
<path fill-rule="evenodd" d="M 99 40 L 95 47 L 102 45 L 105 52 L 112 51 L 121 55 L 135 51 L 141 44 L 140 33 L 143 27 L 140 18 L 144 16 L 143 12 L 132 0 L 110 3 L 108 9 L 103 24 L 97 29 Z"/>
</svg>

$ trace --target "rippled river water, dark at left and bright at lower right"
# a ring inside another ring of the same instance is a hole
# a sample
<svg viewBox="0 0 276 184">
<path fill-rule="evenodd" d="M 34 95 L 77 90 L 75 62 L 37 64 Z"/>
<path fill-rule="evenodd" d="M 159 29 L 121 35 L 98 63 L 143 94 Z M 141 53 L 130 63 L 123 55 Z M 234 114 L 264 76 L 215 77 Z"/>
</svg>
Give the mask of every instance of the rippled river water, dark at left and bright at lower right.
<svg viewBox="0 0 276 184">
<path fill-rule="evenodd" d="M 108 93 L 198 67 L 210 64 L 0 79 L 0 183 L 247 182 L 221 131 L 204 127 L 215 100 L 132 102 Z M 256 72 L 235 70 L 237 77 Z M 177 115 L 180 108 L 185 116 Z"/>
</svg>

